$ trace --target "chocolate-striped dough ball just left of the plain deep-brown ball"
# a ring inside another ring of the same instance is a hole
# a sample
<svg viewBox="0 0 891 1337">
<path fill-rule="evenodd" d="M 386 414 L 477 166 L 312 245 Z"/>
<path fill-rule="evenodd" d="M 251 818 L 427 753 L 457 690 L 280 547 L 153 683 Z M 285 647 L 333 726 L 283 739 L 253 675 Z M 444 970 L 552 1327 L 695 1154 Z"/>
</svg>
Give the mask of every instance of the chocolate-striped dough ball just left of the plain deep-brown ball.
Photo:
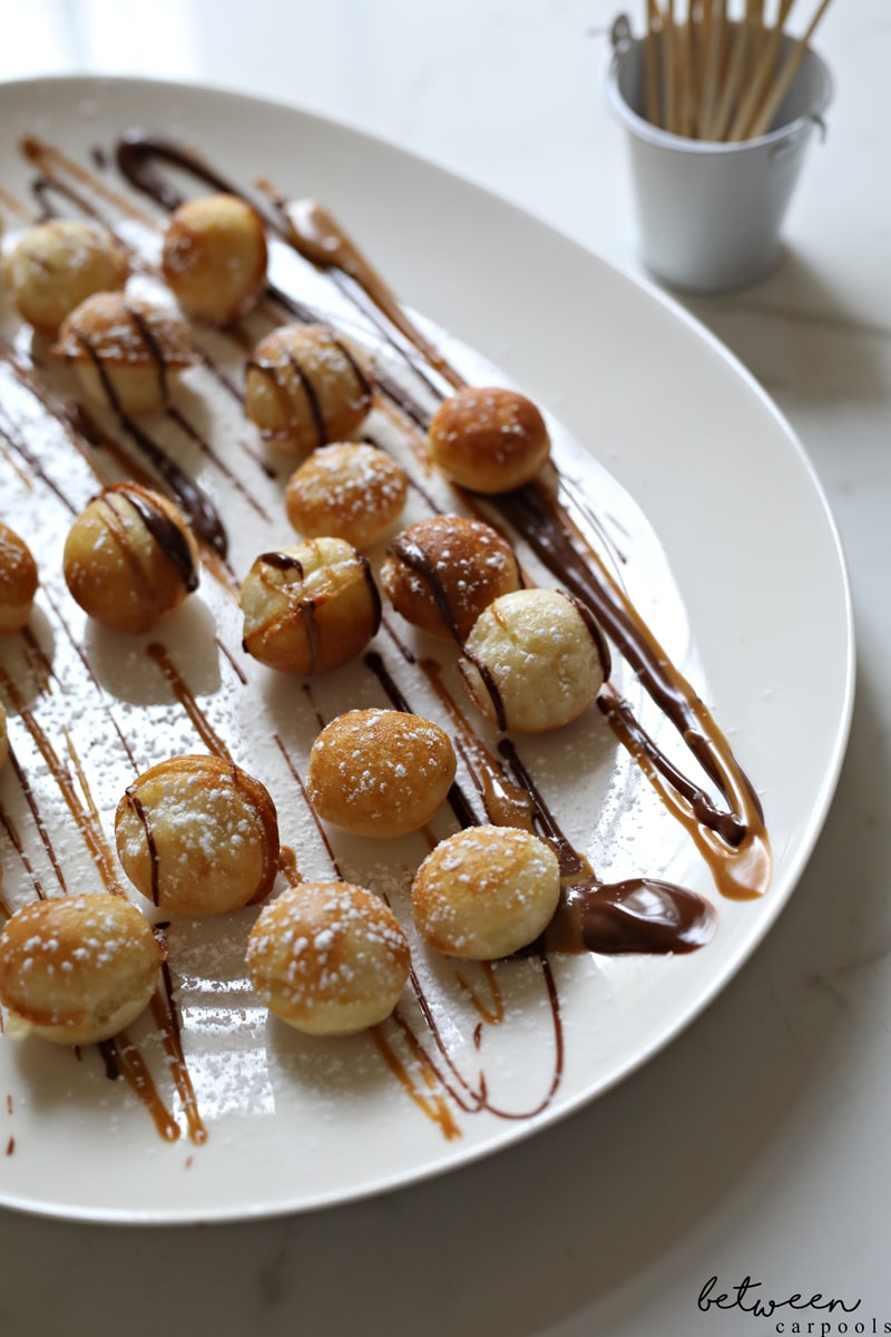
<svg viewBox="0 0 891 1337">
<path fill-rule="evenodd" d="M 307 452 L 349 440 L 371 408 L 367 354 L 322 325 L 283 325 L 254 349 L 244 409 L 260 432 Z"/>
</svg>

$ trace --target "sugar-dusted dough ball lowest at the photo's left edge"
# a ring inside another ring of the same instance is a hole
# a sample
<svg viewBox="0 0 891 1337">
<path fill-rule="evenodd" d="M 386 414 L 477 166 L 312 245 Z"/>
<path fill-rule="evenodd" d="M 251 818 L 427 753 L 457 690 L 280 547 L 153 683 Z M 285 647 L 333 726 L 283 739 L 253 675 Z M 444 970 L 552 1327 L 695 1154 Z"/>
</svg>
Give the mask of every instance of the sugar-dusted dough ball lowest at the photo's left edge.
<svg viewBox="0 0 891 1337">
<path fill-rule="evenodd" d="M 162 961 L 148 920 L 122 896 L 32 901 L 0 933 L 7 1032 L 57 1044 L 107 1040 L 148 1005 Z"/>
</svg>

